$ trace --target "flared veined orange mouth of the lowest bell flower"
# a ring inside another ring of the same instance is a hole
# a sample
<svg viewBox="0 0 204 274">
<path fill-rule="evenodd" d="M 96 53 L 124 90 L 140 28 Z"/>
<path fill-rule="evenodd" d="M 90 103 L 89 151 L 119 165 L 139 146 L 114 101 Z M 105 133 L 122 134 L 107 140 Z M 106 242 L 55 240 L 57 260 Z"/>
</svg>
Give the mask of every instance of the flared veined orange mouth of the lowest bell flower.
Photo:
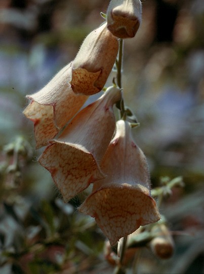
<svg viewBox="0 0 204 274">
<path fill-rule="evenodd" d="M 148 192 L 142 186 L 108 184 L 92 193 L 78 210 L 94 217 L 114 245 L 141 225 L 160 219 L 155 201 Z"/>
</svg>

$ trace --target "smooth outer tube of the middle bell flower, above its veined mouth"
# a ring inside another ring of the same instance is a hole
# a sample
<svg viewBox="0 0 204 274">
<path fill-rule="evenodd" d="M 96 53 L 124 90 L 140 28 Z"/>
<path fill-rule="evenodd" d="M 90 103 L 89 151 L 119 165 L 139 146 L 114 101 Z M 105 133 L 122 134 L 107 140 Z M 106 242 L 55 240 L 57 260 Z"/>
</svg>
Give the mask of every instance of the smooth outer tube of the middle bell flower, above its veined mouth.
<svg viewBox="0 0 204 274">
<path fill-rule="evenodd" d="M 115 130 L 112 106 L 120 98 L 120 89 L 109 87 L 97 101 L 81 110 L 71 120 L 58 140 L 83 146 L 99 163 Z"/>
</svg>

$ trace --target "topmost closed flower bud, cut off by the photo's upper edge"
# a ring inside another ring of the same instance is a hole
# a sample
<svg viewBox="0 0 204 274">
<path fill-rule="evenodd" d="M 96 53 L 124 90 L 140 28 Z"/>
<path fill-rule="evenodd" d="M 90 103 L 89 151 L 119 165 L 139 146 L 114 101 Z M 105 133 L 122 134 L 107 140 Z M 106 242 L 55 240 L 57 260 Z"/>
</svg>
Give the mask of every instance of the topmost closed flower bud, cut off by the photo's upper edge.
<svg viewBox="0 0 204 274">
<path fill-rule="evenodd" d="M 140 0 L 112 0 L 107 10 L 107 27 L 118 38 L 132 38 L 140 26 Z"/>
</svg>

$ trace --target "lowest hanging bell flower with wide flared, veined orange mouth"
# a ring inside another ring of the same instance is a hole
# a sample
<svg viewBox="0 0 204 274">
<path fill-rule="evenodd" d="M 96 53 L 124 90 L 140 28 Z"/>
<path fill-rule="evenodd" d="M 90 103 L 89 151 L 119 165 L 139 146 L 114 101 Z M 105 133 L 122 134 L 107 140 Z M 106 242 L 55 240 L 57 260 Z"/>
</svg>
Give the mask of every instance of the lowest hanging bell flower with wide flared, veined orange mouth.
<svg viewBox="0 0 204 274">
<path fill-rule="evenodd" d="M 96 219 L 111 245 L 160 218 L 150 196 L 146 158 L 132 139 L 131 126 L 124 120 L 116 125 L 100 165 L 107 177 L 94 183 L 92 193 L 78 208 Z"/>
</svg>

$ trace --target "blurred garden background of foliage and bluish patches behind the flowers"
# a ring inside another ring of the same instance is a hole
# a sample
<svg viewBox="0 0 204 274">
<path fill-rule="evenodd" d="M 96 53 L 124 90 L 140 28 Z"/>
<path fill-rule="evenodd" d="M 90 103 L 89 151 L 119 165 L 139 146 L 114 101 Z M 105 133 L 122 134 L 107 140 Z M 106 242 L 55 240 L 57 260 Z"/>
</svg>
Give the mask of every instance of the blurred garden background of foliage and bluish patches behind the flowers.
<svg viewBox="0 0 204 274">
<path fill-rule="evenodd" d="M 107 0 L 0 1 L 0 272 L 112 273 L 104 236 L 76 212 L 86 193 L 64 204 L 37 162 L 26 94 L 42 88 L 103 22 Z M 125 41 L 126 105 L 140 127 L 152 187 L 182 176 L 184 188 L 161 204 L 175 240 L 171 259 L 147 248 L 138 273 L 204 272 L 204 2 L 142 1 L 142 24 Z M 114 73 L 111 73 L 111 84 Z M 114 264 L 114 263 L 113 263 Z M 128 273 L 131 266 L 128 266 Z"/>
</svg>

